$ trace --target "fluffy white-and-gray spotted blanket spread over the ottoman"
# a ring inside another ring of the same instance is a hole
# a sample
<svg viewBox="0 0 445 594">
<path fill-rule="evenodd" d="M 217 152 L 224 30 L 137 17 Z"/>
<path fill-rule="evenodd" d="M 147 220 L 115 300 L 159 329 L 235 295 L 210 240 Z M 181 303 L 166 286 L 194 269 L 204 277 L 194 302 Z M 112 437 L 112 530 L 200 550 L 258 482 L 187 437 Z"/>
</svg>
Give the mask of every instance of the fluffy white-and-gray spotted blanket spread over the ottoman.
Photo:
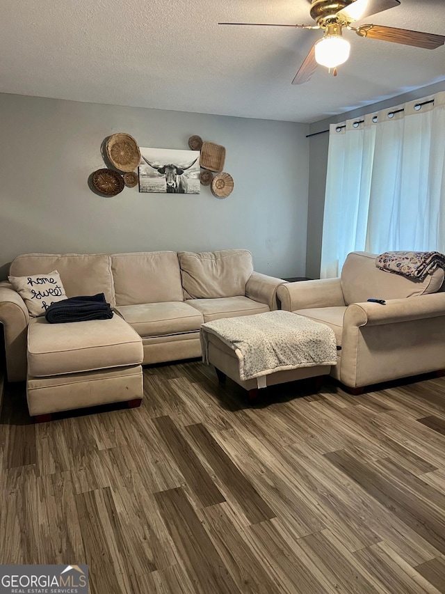
<svg viewBox="0 0 445 594">
<path fill-rule="evenodd" d="M 209 334 L 234 350 L 241 380 L 277 371 L 337 364 L 334 331 L 290 311 L 224 318 L 201 326 L 202 359 L 209 364 Z"/>
</svg>

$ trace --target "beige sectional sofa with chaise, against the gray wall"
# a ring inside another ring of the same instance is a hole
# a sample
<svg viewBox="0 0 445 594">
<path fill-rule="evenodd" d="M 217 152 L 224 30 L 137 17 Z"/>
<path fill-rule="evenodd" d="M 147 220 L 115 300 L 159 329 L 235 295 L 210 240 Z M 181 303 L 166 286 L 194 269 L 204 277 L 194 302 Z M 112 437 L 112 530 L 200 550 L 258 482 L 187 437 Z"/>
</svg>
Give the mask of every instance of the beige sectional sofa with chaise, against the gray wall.
<svg viewBox="0 0 445 594">
<path fill-rule="evenodd" d="M 78 393 L 81 406 L 141 398 L 141 364 L 200 357 L 203 322 L 276 309 L 277 287 L 284 282 L 254 272 L 252 254 L 241 249 L 24 254 L 13 260 L 10 275 L 54 270 L 67 297 L 104 292 L 115 315 L 50 325 L 30 318 L 22 297 L 0 283 L 8 380 L 27 380 L 35 415 L 79 407 L 61 404 L 60 394 L 72 400 Z M 97 387 L 105 377 L 116 386 L 114 396 L 105 396 L 106 383 Z"/>
</svg>

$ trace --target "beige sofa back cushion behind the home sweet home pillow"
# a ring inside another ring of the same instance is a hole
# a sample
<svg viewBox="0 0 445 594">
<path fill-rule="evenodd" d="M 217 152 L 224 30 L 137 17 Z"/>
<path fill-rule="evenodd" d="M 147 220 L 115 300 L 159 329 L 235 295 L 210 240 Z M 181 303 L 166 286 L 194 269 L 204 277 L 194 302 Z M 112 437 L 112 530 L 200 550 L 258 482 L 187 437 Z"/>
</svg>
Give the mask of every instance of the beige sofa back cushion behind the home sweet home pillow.
<svg viewBox="0 0 445 594">
<path fill-rule="evenodd" d="M 115 307 L 111 258 L 107 253 L 24 253 L 10 266 L 10 276 L 48 274 L 57 270 L 67 297 L 104 293 Z"/>
</svg>

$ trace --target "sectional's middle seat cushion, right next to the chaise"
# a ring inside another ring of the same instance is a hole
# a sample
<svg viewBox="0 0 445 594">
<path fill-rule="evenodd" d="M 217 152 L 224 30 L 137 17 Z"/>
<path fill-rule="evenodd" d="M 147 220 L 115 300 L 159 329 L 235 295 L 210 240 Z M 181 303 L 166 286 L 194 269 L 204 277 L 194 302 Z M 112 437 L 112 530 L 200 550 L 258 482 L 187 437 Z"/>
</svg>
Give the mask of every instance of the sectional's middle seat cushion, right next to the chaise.
<svg viewBox="0 0 445 594">
<path fill-rule="evenodd" d="M 204 321 L 199 311 L 183 302 L 121 305 L 118 312 L 143 338 L 198 331 Z"/>
</svg>

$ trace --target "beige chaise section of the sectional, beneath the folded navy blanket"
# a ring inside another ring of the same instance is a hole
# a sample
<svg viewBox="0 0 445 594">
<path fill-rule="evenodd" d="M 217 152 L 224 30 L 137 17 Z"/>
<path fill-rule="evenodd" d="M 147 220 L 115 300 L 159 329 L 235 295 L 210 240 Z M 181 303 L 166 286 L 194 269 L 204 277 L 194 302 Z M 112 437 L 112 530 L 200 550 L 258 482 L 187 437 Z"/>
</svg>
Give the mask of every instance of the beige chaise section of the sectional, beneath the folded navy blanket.
<svg viewBox="0 0 445 594">
<path fill-rule="evenodd" d="M 27 357 L 26 398 L 37 422 L 53 412 L 142 401 L 142 339 L 119 315 L 67 324 L 33 318 Z"/>
</svg>

